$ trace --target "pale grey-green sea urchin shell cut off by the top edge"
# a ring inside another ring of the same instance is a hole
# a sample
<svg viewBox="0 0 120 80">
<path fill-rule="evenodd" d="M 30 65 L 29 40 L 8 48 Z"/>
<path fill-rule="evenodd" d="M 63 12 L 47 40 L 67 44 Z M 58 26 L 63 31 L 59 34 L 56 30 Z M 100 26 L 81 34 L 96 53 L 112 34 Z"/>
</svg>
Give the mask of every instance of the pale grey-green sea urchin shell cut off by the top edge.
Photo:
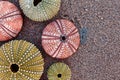
<svg viewBox="0 0 120 80">
<path fill-rule="evenodd" d="M 42 0 L 36 6 L 34 0 L 19 0 L 19 3 L 24 14 L 31 20 L 46 21 L 57 14 L 61 0 Z"/>
</svg>

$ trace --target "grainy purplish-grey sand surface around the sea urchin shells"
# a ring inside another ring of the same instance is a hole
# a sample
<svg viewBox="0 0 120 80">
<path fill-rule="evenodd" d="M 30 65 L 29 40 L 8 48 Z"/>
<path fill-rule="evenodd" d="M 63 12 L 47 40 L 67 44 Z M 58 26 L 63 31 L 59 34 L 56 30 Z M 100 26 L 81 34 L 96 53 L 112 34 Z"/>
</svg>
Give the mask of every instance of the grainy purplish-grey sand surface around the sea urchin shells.
<svg viewBox="0 0 120 80">
<path fill-rule="evenodd" d="M 20 9 L 18 0 L 10 1 Z M 58 61 L 69 65 L 71 80 L 120 80 L 120 0 L 62 0 L 58 15 L 46 22 L 22 16 L 23 28 L 15 39 L 27 40 L 42 51 L 45 70 L 40 80 L 48 80 L 47 69 Z M 87 28 L 85 44 L 64 60 L 51 58 L 41 46 L 43 29 L 58 18 L 69 19 L 79 29 Z"/>
</svg>

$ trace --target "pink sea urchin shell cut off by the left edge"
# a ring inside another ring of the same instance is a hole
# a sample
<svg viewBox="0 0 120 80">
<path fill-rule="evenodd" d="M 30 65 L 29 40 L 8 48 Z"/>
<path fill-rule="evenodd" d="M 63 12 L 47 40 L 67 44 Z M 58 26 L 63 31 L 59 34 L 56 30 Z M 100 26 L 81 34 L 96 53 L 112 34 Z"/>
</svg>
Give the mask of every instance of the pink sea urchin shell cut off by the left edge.
<svg viewBox="0 0 120 80">
<path fill-rule="evenodd" d="M 0 41 L 16 37 L 23 24 L 18 8 L 8 2 L 0 1 Z"/>
</svg>

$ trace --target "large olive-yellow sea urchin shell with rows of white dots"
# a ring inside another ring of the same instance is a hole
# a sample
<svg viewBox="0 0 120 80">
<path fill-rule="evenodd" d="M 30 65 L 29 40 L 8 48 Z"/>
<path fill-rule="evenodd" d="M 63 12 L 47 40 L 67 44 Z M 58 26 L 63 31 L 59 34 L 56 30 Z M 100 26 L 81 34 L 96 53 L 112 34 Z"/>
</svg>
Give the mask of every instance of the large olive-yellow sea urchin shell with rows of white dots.
<svg viewBox="0 0 120 80">
<path fill-rule="evenodd" d="M 19 70 L 13 73 L 12 64 Z M 40 51 L 31 43 L 14 40 L 0 47 L 0 80 L 39 80 L 44 61 Z"/>
</svg>

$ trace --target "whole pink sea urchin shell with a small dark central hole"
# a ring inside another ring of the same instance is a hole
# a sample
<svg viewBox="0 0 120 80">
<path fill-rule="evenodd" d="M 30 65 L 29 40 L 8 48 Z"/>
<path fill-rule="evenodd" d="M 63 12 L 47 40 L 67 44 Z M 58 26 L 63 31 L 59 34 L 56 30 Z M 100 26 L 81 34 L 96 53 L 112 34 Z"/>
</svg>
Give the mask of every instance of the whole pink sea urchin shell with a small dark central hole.
<svg viewBox="0 0 120 80">
<path fill-rule="evenodd" d="M 47 54 L 54 58 L 67 58 L 76 52 L 80 45 L 80 36 L 75 25 L 64 19 L 58 19 L 43 30 L 42 46 Z"/>
</svg>

